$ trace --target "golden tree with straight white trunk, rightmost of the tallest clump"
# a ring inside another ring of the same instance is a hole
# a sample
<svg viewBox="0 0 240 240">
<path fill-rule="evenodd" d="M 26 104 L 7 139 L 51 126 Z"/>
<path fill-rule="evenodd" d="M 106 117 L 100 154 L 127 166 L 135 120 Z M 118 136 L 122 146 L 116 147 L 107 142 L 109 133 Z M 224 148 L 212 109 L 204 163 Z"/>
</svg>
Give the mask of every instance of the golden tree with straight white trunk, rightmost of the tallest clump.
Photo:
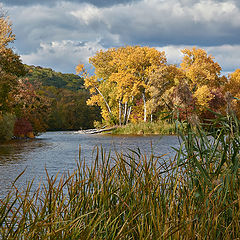
<svg viewBox="0 0 240 240">
<path fill-rule="evenodd" d="M 164 52 L 155 48 L 127 46 L 119 48 L 114 53 L 112 65 L 117 66 L 117 73 L 110 76 L 115 82 L 118 93 L 119 106 L 126 105 L 133 99 L 142 99 L 143 120 L 147 121 L 147 101 L 150 75 L 166 64 Z M 138 101 L 139 102 L 139 101 Z M 120 109 L 120 107 L 119 107 Z"/>
</svg>

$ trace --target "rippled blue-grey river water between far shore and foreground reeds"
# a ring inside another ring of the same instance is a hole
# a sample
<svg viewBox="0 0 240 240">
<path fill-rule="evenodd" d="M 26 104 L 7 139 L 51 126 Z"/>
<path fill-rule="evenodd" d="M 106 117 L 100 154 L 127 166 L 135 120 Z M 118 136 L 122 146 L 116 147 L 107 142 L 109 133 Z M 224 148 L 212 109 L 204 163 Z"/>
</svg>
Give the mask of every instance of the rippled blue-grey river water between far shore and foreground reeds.
<svg viewBox="0 0 240 240">
<path fill-rule="evenodd" d="M 178 147 L 176 136 L 113 136 L 88 135 L 74 132 L 47 132 L 34 140 L 14 141 L 0 145 L 0 199 L 6 196 L 15 178 L 18 188 L 26 187 L 33 178 L 35 186 L 46 180 L 45 168 L 50 176 L 76 169 L 81 146 L 82 157 L 91 165 L 94 148 L 102 147 L 107 152 L 130 152 L 141 149 L 143 154 L 167 154 L 173 158 Z"/>
</svg>

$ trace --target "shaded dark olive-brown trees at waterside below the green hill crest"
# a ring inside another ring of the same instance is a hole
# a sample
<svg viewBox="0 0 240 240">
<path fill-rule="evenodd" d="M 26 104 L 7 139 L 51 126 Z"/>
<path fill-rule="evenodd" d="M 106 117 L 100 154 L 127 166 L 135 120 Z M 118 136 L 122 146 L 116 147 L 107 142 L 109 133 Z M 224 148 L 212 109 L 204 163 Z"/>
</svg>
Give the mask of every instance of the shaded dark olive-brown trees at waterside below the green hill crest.
<svg viewBox="0 0 240 240">
<path fill-rule="evenodd" d="M 71 91 L 53 86 L 42 89 L 50 107 L 46 123 L 49 130 L 79 130 L 92 128 L 94 120 L 101 120 L 97 107 L 87 106 L 89 92 L 85 89 Z"/>
</svg>

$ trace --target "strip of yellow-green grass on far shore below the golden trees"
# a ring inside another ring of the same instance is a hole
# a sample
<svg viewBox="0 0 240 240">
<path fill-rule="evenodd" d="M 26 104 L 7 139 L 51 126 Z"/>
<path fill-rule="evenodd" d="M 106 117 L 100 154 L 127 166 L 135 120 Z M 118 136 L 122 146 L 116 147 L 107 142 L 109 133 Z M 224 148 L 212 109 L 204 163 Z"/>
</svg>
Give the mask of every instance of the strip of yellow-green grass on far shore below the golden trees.
<svg viewBox="0 0 240 240">
<path fill-rule="evenodd" d="M 176 134 L 175 124 L 167 121 L 158 122 L 139 122 L 129 123 L 125 126 L 118 127 L 112 132 L 113 134 L 159 134 L 172 135 Z"/>
</svg>

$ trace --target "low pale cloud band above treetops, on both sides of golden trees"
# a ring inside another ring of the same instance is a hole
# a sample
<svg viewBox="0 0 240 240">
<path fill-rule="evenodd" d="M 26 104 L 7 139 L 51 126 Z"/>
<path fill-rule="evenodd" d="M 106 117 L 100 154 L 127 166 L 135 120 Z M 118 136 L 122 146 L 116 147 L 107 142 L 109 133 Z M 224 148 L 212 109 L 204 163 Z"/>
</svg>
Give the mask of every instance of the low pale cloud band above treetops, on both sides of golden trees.
<svg viewBox="0 0 240 240">
<path fill-rule="evenodd" d="M 193 48 L 189 45 L 168 45 L 156 47 L 158 51 L 165 51 L 168 63 L 179 65 L 183 54 L 181 50 L 184 48 Z M 202 47 L 208 54 L 211 54 L 215 61 L 220 64 L 223 71 L 222 74 L 228 73 L 239 68 L 240 45 L 222 45 L 214 47 Z M 107 50 L 101 44 L 101 40 L 94 42 L 79 41 L 56 41 L 51 43 L 41 43 L 36 52 L 22 55 L 23 62 L 26 64 L 40 65 L 50 67 L 60 72 L 75 72 L 78 63 L 85 64 L 89 69 L 89 57 L 94 56 L 99 50 Z"/>
</svg>

